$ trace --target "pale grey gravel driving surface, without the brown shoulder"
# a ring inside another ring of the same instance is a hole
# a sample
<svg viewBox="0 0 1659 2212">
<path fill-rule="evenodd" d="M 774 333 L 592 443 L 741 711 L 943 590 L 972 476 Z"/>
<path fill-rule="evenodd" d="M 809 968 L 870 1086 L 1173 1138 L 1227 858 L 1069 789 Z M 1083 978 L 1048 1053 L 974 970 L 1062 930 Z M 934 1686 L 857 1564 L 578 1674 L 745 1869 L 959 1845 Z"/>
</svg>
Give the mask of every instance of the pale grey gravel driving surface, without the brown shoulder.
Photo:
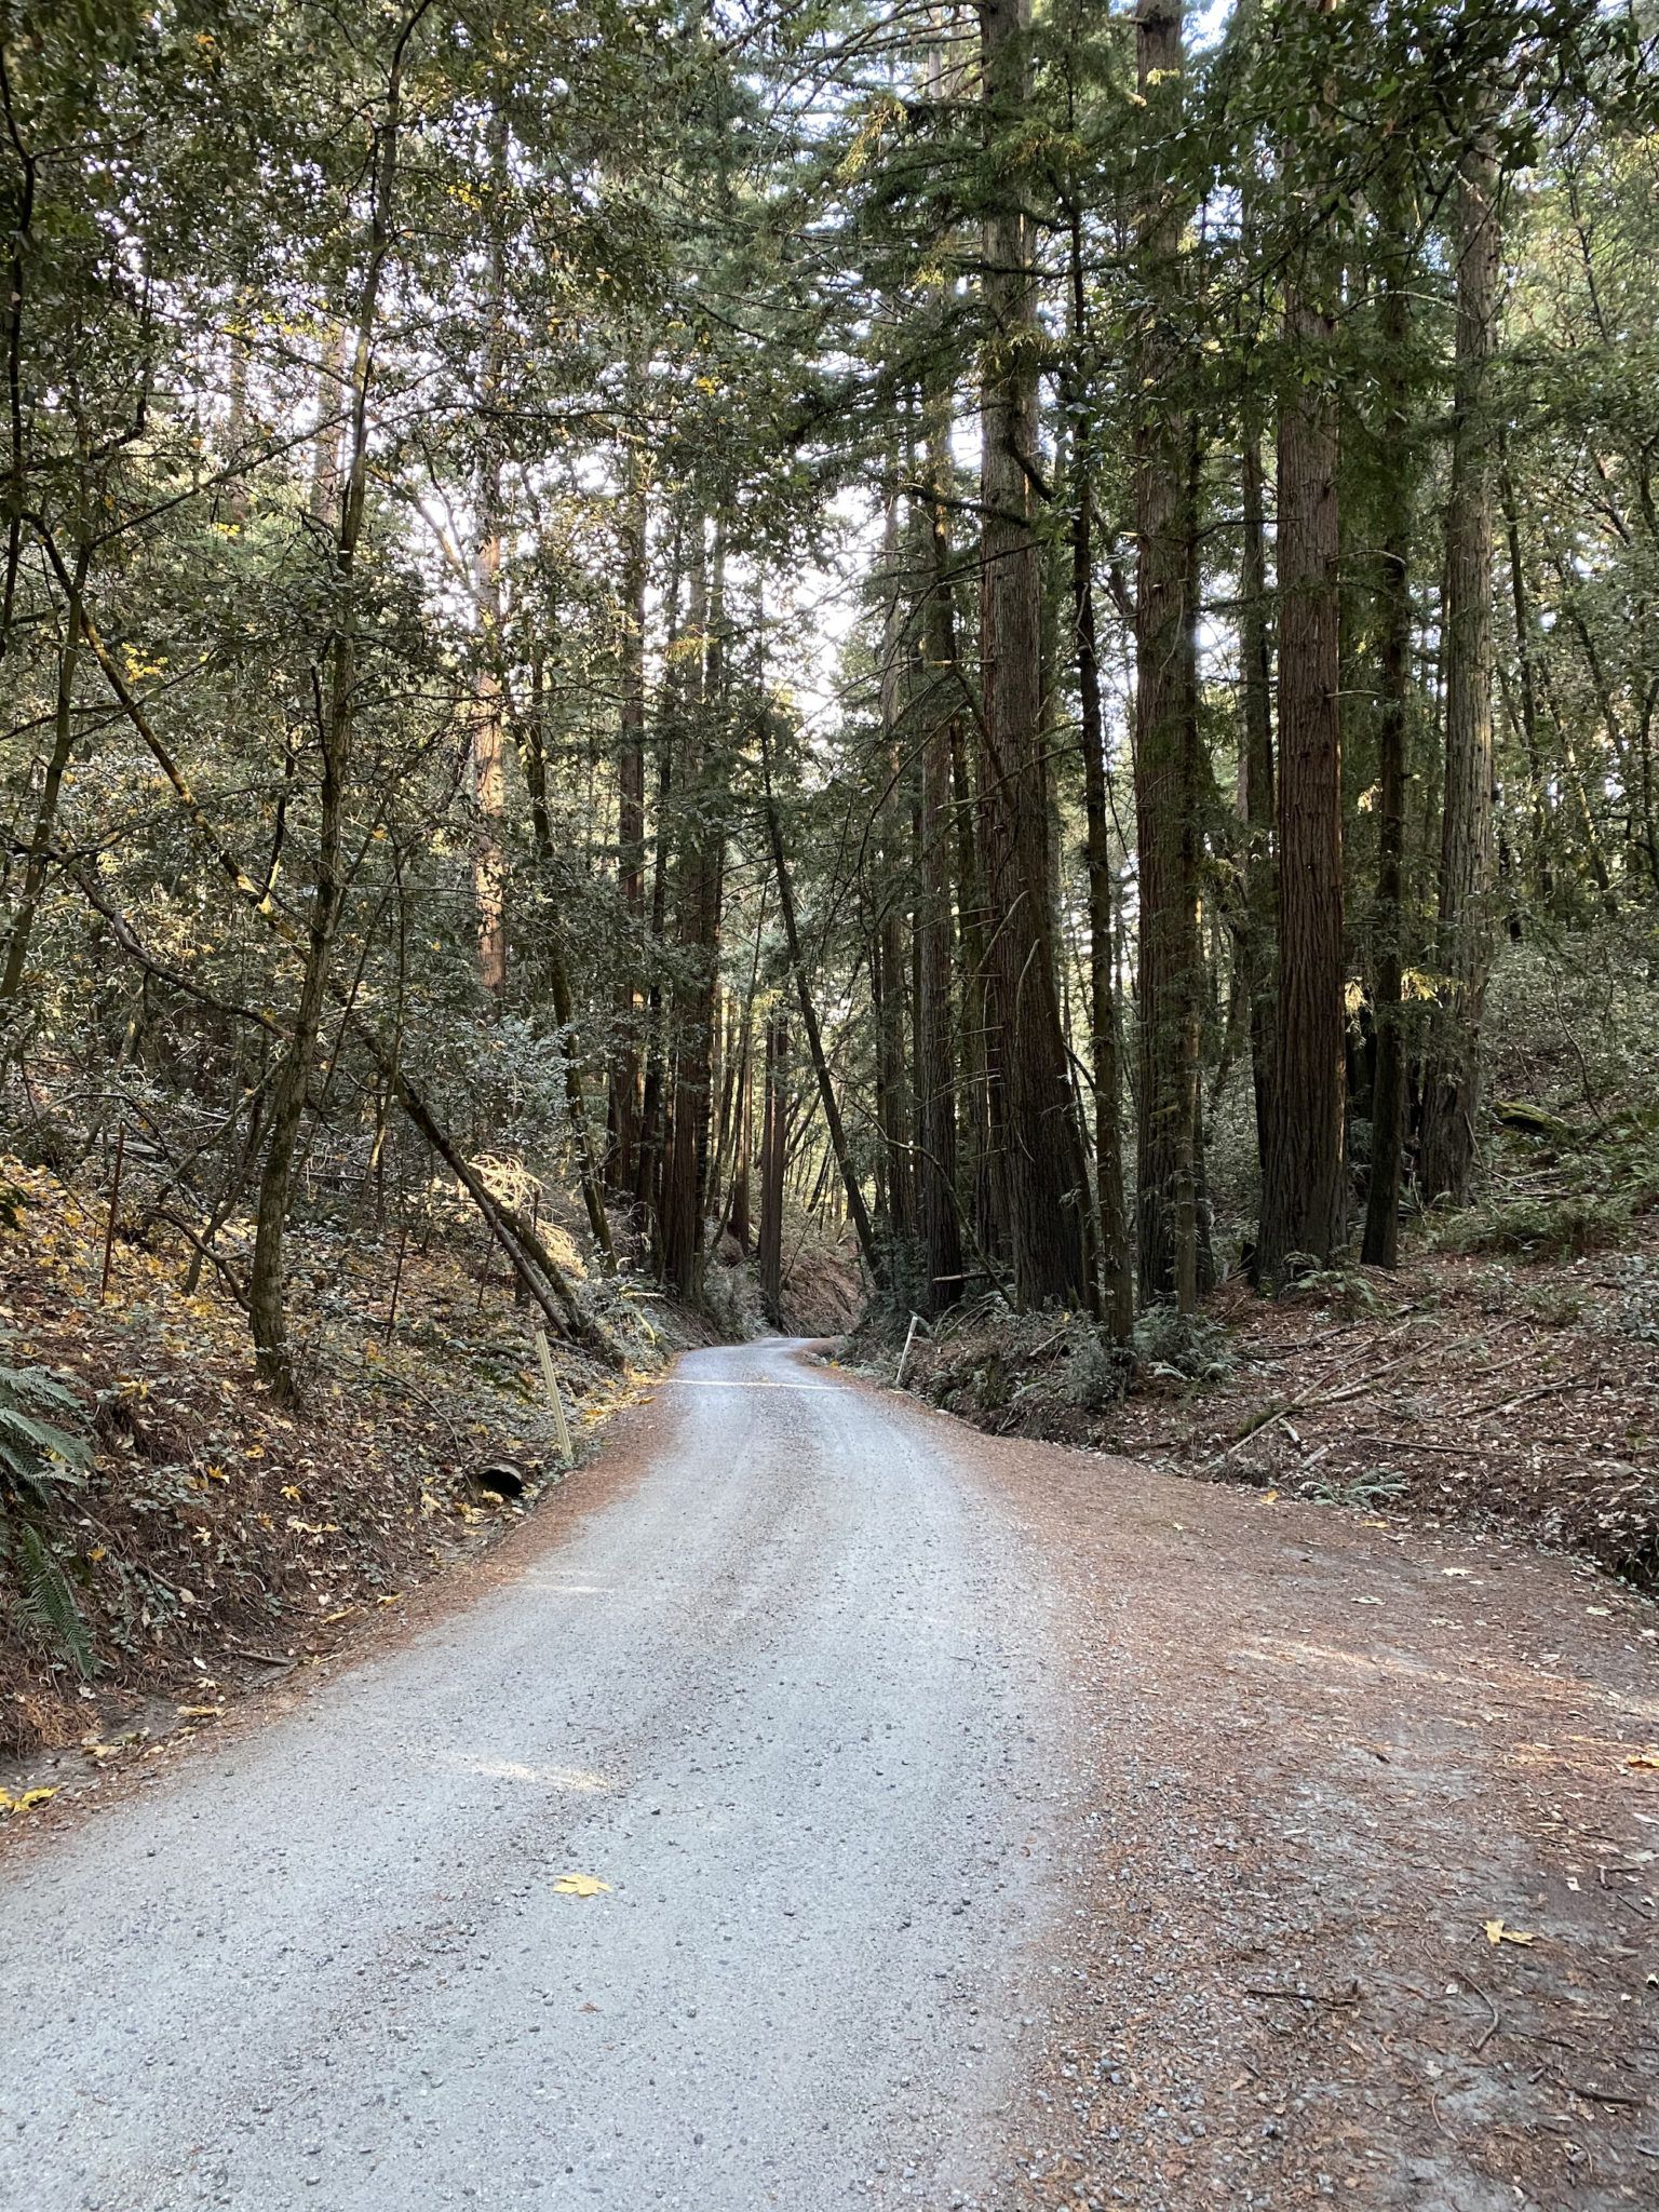
<svg viewBox="0 0 1659 2212">
<path fill-rule="evenodd" d="M 630 1420 L 566 1540 L 11 1871 L 11 2201 L 973 2194 L 1044 1920 L 1046 1599 L 947 1425 L 785 1343 Z"/>
</svg>

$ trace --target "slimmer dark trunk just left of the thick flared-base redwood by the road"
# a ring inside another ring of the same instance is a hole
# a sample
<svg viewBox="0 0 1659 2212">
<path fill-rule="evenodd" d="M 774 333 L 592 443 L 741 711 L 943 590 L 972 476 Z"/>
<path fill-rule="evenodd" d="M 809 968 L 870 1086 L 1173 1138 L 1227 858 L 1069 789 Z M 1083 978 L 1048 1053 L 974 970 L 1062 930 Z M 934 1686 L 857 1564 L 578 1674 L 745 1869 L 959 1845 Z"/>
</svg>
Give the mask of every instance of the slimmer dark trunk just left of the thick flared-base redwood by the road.
<svg viewBox="0 0 1659 2212">
<path fill-rule="evenodd" d="M 951 1035 L 951 750 L 962 743 L 962 672 L 956 657 L 951 582 L 951 411 L 929 398 L 927 533 L 931 566 L 922 604 L 922 894 L 916 909 L 916 1181 L 927 1312 L 962 1296 L 962 1225 L 956 1197 L 956 1051 Z"/>
</svg>

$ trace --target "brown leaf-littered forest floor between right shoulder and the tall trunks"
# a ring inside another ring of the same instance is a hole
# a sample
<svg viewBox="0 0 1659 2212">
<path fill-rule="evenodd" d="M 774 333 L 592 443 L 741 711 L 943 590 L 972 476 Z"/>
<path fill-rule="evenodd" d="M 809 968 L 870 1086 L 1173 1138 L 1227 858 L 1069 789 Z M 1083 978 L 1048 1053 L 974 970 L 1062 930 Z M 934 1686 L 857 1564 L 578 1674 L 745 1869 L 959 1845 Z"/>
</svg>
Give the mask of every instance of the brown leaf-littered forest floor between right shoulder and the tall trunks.
<svg viewBox="0 0 1659 2212">
<path fill-rule="evenodd" d="M 1526 1263 L 1425 1252 L 1279 1301 L 1221 1285 L 1144 1325 L 1133 1387 L 1086 1323 L 967 1307 L 918 1332 L 911 1391 L 993 1436 L 1210 1482 L 1517 1535 L 1659 1586 L 1659 1232 Z M 898 1347 L 847 1352 L 891 1380 Z"/>
</svg>

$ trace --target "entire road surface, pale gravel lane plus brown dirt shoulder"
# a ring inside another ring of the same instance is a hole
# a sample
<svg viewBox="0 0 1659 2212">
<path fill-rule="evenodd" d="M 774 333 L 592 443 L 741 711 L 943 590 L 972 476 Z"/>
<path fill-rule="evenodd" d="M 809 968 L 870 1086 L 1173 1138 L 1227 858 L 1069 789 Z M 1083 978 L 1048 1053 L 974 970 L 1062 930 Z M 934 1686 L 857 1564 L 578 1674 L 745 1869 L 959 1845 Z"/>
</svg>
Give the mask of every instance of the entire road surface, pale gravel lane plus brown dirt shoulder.
<svg viewBox="0 0 1659 2212">
<path fill-rule="evenodd" d="M 688 1356 L 0 1865 L 0 2201 L 1652 2203 L 1652 1621 Z"/>
</svg>

